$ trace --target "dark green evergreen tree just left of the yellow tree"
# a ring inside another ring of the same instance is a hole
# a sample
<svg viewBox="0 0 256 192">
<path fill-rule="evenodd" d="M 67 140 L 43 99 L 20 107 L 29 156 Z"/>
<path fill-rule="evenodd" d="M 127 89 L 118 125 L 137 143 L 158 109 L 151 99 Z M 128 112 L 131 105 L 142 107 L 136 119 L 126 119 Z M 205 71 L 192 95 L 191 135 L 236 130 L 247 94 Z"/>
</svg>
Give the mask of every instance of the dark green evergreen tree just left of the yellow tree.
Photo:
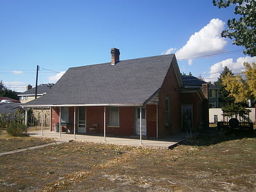
<svg viewBox="0 0 256 192">
<path fill-rule="evenodd" d="M 219 88 L 218 96 L 219 96 L 219 102 L 224 105 L 229 105 L 235 102 L 235 98 L 232 96 L 230 97 L 230 92 L 226 90 L 225 86 L 222 85 L 222 79 L 227 76 L 227 74 L 232 74 L 232 70 L 229 69 L 227 66 L 223 68 L 223 71 L 221 74 L 219 74 L 218 80 L 215 82 L 215 86 Z"/>
</svg>

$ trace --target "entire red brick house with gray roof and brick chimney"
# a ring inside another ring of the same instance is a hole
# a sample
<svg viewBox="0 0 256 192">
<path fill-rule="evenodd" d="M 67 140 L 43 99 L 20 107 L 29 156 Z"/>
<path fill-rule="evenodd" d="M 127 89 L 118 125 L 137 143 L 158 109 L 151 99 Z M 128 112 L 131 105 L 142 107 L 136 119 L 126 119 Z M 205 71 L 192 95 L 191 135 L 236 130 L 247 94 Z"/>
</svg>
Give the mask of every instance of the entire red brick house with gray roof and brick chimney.
<svg viewBox="0 0 256 192">
<path fill-rule="evenodd" d="M 72 133 L 168 137 L 208 127 L 208 100 L 185 88 L 174 54 L 69 68 L 49 94 L 23 107 L 51 107 L 54 124 Z M 141 132 L 140 132 L 141 130 Z"/>
</svg>

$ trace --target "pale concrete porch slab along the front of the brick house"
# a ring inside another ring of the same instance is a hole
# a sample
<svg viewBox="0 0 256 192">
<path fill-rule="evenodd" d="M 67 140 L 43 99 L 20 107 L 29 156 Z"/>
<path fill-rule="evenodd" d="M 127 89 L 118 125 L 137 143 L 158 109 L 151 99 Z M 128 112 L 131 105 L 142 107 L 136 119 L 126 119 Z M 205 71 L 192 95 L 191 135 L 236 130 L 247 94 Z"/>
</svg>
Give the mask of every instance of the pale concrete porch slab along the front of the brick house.
<svg viewBox="0 0 256 192">
<path fill-rule="evenodd" d="M 50 130 L 43 130 L 43 136 L 41 136 L 41 130 L 30 131 L 28 132 L 30 137 L 47 137 L 55 138 L 55 141 L 60 142 L 69 142 L 69 141 L 88 141 L 94 143 L 107 143 L 107 144 L 118 144 L 118 145 L 127 145 L 127 146 L 143 146 L 143 147 L 157 147 L 157 148 L 166 148 L 171 149 L 173 146 L 176 146 L 177 143 L 185 140 L 187 138 L 186 133 L 177 133 L 171 137 L 165 139 L 142 139 L 142 144 L 140 144 L 139 138 L 133 137 L 104 137 L 98 135 L 77 135 L 74 138 L 73 134 L 70 133 L 61 133 L 59 137 L 59 132 L 54 132 Z"/>
</svg>

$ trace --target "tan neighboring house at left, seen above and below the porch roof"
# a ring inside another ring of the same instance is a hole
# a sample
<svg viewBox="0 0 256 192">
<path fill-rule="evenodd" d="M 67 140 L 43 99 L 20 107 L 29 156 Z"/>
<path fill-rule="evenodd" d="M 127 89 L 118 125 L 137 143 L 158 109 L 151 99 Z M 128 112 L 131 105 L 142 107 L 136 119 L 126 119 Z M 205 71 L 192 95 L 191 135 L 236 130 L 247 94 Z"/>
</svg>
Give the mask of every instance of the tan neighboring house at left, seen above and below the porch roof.
<svg viewBox="0 0 256 192">
<path fill-rule="evenodd" d="M 43 96 L 44 94 L 49 93 L 54 84 L 40 84 L 37 86 L 37 99 Z M 20 97 L 21 104 L 27 103 L 29 101 L 33 101 L 35 99 L 36 88 L 32 88 L 31 85 L 27 85 L 27 90 L 23 93 L 18 94 Z M 41 108 L 32 107 L 33 115 L 29 118 L 30 126 L 38 126 L 42 119 L 42 111 Z M 29 114 L 31 115 L 31 113 Z M 26 121 L 27 124 L 27 121 Z M 45 107 L 43 112 L 43 124 L 44 126 L 50 126 L 51 124 L 51 112 L 50 107 Z"/>
</svg>

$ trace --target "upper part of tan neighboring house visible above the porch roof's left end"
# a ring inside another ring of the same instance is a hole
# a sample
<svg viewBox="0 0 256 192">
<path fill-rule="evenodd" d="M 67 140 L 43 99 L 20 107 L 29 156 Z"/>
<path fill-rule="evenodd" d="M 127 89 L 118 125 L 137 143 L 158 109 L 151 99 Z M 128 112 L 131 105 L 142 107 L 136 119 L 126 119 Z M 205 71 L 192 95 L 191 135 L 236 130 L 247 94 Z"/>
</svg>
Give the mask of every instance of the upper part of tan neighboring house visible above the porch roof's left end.
<svg viewBox="0 0 256 192">
<path fill-rule="evenodd" d="M 44 94 L 47 94 L 54 84 L 40 84 L 37 86 L 37 98 L 40 98 Z M 27 90 L 18 94 L 22 104 L 35 99 L 36 88 L 32 88 L 32 85 L 27 85 Z"/>
</svg>

